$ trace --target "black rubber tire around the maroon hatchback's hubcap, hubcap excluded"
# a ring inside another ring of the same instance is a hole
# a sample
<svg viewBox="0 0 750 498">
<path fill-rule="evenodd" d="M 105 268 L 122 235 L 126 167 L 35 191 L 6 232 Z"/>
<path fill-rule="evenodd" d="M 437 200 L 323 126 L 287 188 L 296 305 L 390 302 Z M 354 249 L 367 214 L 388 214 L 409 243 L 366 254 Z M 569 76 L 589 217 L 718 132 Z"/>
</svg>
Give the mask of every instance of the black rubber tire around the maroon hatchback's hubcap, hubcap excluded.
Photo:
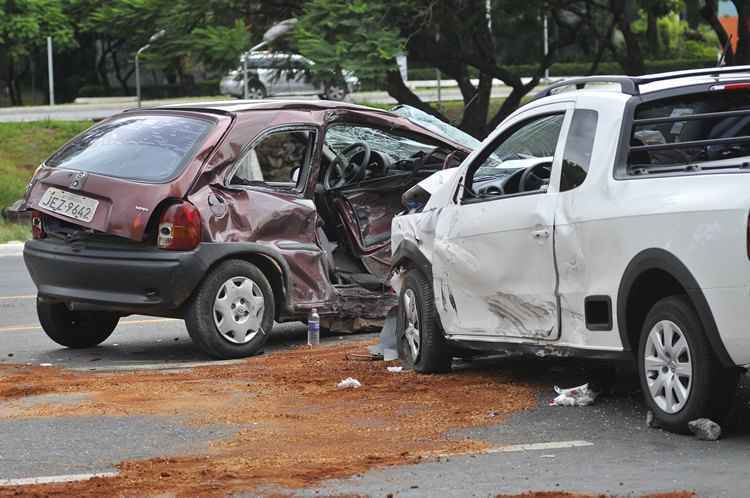
<svg viewBox="0 0 750 498">
<path fill-rule="evenodd" d="M 260 289 L 263 296 L 263 311 L 257 333 L 246 343 L 235 343 L 219 331 L 214 319 L 214 302 L 225 283 L 243 277 Z M 263 272 L 251 263 L 233 259 L 221 263 L 212 270 L 195 291 L 185 313 L 185 325 L 193 343 L 209 356 L 221 360 L 245 358 L 263 352 L 263 346 L 273 328 L 275 306 L 271 284 Z"/>
</svg>

